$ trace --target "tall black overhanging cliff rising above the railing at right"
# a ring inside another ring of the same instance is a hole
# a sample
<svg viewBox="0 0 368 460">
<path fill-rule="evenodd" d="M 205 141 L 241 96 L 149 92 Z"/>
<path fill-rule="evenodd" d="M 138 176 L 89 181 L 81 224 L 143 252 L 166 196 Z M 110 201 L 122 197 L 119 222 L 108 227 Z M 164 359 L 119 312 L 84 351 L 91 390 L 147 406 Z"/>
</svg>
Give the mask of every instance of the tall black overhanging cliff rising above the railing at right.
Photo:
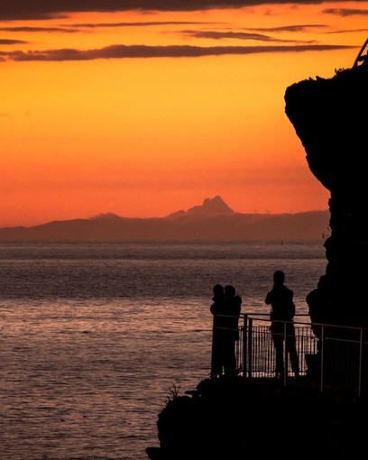
<svg viewBox="0 0 368 460">
<path fill-rule="evenodd" d="M 309 169 L 330 191 L 327 268 L 312 296 L 318 303 L 314 320 L 367 327 L 368 63 L 295 83 L 285 103 Z"/>
</svg>

